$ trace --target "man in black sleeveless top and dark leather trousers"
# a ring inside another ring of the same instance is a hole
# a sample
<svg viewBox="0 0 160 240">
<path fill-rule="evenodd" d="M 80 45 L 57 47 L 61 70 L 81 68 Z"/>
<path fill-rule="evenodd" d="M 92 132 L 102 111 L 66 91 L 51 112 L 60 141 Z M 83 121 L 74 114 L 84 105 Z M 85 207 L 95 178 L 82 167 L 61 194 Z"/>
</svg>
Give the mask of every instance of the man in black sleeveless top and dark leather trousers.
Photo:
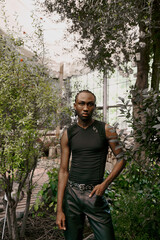
<svg viewBox="0 0 160 240">
<path fill-rule="evenodd" d="M 65 130 L 61 138 L 56 223 L 64 230 L 66 240 L 82 240 L 87 216 L 96 240 L 114 240 L 104 192 L 125 165 L 123 152 L 113 128 L 92 118 L 96 108 L 96 97 L 92 92 L 80 91 L 74 108 L 78 121 Z M 118 161 L 109 176 L 103 179 L 108 146 Z"/>
</svg>

